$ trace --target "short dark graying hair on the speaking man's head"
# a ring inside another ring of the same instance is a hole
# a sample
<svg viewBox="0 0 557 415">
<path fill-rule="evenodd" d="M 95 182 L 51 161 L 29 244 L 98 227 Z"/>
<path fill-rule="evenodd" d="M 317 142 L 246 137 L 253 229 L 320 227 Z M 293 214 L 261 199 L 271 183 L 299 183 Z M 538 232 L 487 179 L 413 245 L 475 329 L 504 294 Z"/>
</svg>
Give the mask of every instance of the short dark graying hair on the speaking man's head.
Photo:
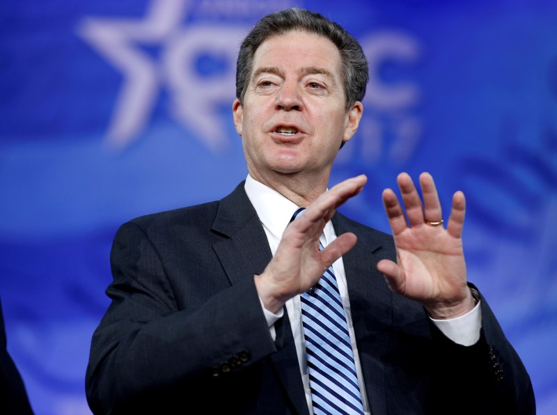
<svg viewBox="0 0 557 415">
<path fill-rule="evenodd" d="M 315 33 L 331 40 L 340 52 L 346 110 L 363 100 L 368 84 L 368 61 L 360 44 L 340 24 L 319 13 L 303 8 L 289 8 L 260 19 L 240 46 L 236 63 L 236 97 L 244 104 L 244 95 L 253 70 L 253 57 L 267 38 L 290 31 Z"/>
</svg>

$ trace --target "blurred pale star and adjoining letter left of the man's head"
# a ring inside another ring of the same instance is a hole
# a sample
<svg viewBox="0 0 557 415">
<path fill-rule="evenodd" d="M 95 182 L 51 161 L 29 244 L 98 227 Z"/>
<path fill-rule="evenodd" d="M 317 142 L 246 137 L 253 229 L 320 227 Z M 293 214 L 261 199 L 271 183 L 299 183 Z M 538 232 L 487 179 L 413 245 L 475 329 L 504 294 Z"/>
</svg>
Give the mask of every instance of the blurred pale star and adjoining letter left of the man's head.
<svg viewBox="0 0 557 415">
<path fill-rule="evenodd" d="M 215 108 L 233 100 L 235 58 L 244 29 L 196 24 L 180 27 L 190 2 L 152 0 L 143 19 L 86 17 L 77 33 L 99 54 L 122 72 L 124 81 L 116 101 L 106 140 L 109 146 L 125 148 L 148 123 L 159 89 L 171 93 L 171 114 L 193 130 L 210 150 L 228 143 L 215 122 Z M 158 45 L 158 61 L 138 44 Z M 202 77 L 194 62 L 199 54 L 224 56 L 225 73 Z"/>
</svg>

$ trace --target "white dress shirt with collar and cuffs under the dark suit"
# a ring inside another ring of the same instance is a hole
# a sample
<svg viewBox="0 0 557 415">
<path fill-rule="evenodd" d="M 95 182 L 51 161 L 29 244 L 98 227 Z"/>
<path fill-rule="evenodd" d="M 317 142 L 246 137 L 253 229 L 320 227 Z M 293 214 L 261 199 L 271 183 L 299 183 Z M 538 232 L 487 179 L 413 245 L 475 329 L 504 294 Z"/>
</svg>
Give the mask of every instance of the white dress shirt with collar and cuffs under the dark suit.
<svg viewBox="0 0 557 415">
<path fill-rule="evenodd" d="M 261 221 L 265 234 L 267 235 L 267 240 L 269 241 L 269 246 L 273 256 L 278 247 L 278 243 L 281 242 L 281 237 L 283 232 L 290 223 L 292 214 L 298 209 L 298 206 L 292 201 L 285 198 L 282 194 L 278 193 L 273 189 L 263 185 L 262 183 L 251 178 L 250 175 L 246 178 L 245 184 L 246 194 L 256 209 L 258 217 Z M 327 246 L 332 241 L 336 239 L 336 234 L 331 221 L 328 221 L 324 227 L 323 234 L 320 237 L 320 242 L 323 246 Z M 363 384 L 363 375 L 360 365 L 360 359 L 358 354 L 358 349 L 356 347 L 356 338 L 354 336 L 354 326 L 352 324 L 352 313 L 350 311 L 350 299 L 348 298 L 348 290 L 346 284 L 346 276 L 343 265 L 343 258 L 338 258 L 333 263 L 333 270 L 336 276 L 336 281 L 338 283 L 338 290 L 340 292 L 340 297 L 343 301 L 344 310 L 346 313 L 346 320 L 348 323 L 348 332 L 350 334 L 350 341 L 352 343 L 352 349 L 354 350 L 354 363 L 356 363 L 356 373 L 358 375 L 358 381 L 360 384 L 361 397 L 363 408 L 366 414 L 370 413 L 369 405 L 367 402 L 366 388 Z M 271 331 L 272 338 L 276 337 L 274 331 L 274 323 L 276 320 L 283 316 L 283 311 L 278 313 L 272 313 L 267 308 L 263 306 L 263 312 L 265 313 L 265 318 L 267 318 L 267 323 L 269 324 L 269 330 Z M 290 319 L 290 327 L 292 327 L 292 335 L 294 336 L 294 341 L 296 345 L 296 351 L 298 355 L 298 361 L 300 366 L 300 372 L 302 377 L 302 382 L 304 383 L 304 389 L 306 392 L 306 400 L 308 402 L 308 408 L 310 413 L 313 414 L 312 404 L 311 404 L 311 389 L 309 386 L 309 377 L 306 364 L 306 345 L 304 341 L 304 330 L 301 325 L 301 304 L 300 296 L 297 295 L 288 300 L 285 304 L 286 310 L 288 311 L 288 318 Z M 461 345 L 473 345 L 480 338 L 481 329 L 481 309 L 479 304 L 473 308 L 472 311 L 462 315 L 458 318 L 450 320 L 434 320 L 434 324 L 439 327 L 439 329 L 455 343 Z"/>
</svg>

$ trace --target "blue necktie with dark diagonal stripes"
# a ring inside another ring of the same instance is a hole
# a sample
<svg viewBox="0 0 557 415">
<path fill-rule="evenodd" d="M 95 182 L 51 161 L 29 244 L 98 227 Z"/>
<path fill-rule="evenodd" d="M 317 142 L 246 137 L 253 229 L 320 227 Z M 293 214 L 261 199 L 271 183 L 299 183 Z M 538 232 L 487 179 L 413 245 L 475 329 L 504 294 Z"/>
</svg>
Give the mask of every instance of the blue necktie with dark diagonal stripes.
<svg viewBox="0 0 557 415">
<path fill-rule="evenodd" d="M 303 210 L 299 208 L 290 221 Z M 323 249 L 321 242 L 319 249 Z M 300 299 L 314 414 L 363 414 L 354 352 L 333 267 Z"/>
</svg>

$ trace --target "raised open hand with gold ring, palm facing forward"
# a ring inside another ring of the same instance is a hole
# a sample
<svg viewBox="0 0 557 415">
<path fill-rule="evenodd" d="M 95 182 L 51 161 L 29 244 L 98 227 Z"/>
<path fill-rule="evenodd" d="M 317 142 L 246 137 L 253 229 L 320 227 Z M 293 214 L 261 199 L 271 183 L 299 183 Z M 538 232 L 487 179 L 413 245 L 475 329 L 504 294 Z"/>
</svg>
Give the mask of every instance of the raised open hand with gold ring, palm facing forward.
<svg viewBox="0 0 557 415">
<path fill-rule="evenodd" d="M 408 222 L 397 196 L 386 189 L 383 203 L 395 238 L 398 264 L 381 260 L 377 269 L 385 275 L 391 290 L 421 302 L 433 318 L 455 318 L 467 313 L 474 302 L 466 285 L 462 250 L 464 194 L 457 191 L 453 195 L 445 229 L 439 196 L 429 173 L 420 175 L 423 206 L 407 173 L 400 173 L 397 182 Z"/>
</svg>

